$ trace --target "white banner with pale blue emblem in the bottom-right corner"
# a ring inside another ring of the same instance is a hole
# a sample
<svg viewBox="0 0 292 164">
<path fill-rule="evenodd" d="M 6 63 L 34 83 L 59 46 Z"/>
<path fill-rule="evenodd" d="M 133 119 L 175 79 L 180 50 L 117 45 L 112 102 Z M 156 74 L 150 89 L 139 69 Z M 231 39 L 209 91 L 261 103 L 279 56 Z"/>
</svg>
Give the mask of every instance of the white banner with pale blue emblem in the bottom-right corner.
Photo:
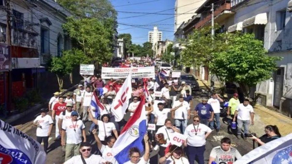
<svg viewBox="0 0 292 164">
<path fill-rule="evenodd" d="M 265 163 L 265 164 L 290 164 L 292 163 L 292 133 L 265 143 L 255 148 L 234 162 L 242 163 Z"/>
</svg>

